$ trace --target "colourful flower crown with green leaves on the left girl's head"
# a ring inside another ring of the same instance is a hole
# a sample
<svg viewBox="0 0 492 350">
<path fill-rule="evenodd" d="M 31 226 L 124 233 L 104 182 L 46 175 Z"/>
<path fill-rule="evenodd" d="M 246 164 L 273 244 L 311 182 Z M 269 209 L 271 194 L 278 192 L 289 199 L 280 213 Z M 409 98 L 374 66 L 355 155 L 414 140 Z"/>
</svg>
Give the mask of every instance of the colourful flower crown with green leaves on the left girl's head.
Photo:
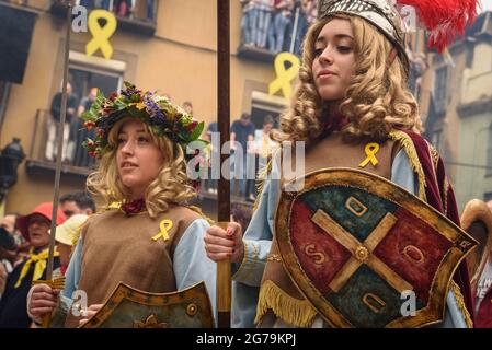
<svg viewBox="0 0 492 350">
<path fill-rule="evenodd" d="M 125 90 L 118 95 L 116 92 L 106 98 L 99 90 L 91 108 L 82 114 L 84 128 L 90 131 L 96 128 L 94 139 L 88 138 L 82 142 L 90 155 L 101 158 L 107 150 L 110 130 L 124 117 L 130 117 L 149 125 L 158 136 L 165 136 L 183 148 L 185 158 L 186 147 L 199 139 L 204 122 L 193 119 L 192 115 L 171 103 L 165 96 L 159 96 L 150 91 L 142 92 L 134 84 L 125 81 Z"/>
</svg>

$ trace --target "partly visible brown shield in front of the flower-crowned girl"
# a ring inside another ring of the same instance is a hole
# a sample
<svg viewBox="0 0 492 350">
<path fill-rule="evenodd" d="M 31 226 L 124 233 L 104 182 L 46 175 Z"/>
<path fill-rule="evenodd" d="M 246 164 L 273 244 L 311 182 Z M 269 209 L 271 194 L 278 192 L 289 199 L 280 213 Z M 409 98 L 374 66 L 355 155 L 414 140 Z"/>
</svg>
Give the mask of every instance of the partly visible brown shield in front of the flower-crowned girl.
<svg viewBox="0 0 492 350">
<path fill-rule="evenodd" d="M 119 283 L 81 328 L 211 328 L 205 283 L 172 293 L 148 293 Z"/>
</svg>

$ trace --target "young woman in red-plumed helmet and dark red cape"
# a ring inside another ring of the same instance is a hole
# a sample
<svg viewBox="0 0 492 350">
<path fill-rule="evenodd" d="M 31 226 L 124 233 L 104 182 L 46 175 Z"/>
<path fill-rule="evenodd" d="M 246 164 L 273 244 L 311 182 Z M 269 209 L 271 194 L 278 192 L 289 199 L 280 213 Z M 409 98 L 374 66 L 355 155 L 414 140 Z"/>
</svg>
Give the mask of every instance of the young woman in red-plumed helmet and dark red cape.
<svg viewBox="0 0 492 350">
<path fill-rule="evenodd" d="M 419 1 L 411 2 L 417 13 L 433 16 L 434 26 L 438 26 L 435 21 L 439 18 L 434 16 L 432 9 L 423 9 Z M 456 2 L 445 13 L 447 23 L 453 27 L 453 21 L 457 21 L 462 28 L 467 15 L 471 21 L 474 11 L 474 1 Z M 451 18 L 457 13 L 460 18 Z M 434 33 L 431 40 L 442 46 L 440 37 L 448 39 L 448 34 Z M 408 90 L 408 68 L 402 20 L 389 2 L 320 1 L 319 19 L 304 43 L 299 86 L 290 108 L 282 117 L 281 130 L 273 138 L 278 142 L 305 142 L 304 174 L 330 167 L 376 174 L 459 224 L 442 159 L 412 131 L 417 125 L 419 110 Z M 272 173 L 277 171 L 275 164 L 271 167 Z M 236 327 L 330 326 L 283 265 L 274 228 L 284 188 L 282 178 L 275 178 L 264 179 L 243 237 L 234 223 L 230 223 L 227 232 L 213 226 L 205 236 L 211 259 L 230 258 L 236 265 L 232 324 Z M 449 292 L 443 295 L 445 318 L 438 326 L 471 327 L 469 278 L 464 262 L 449 285 Z"/>
</svg>

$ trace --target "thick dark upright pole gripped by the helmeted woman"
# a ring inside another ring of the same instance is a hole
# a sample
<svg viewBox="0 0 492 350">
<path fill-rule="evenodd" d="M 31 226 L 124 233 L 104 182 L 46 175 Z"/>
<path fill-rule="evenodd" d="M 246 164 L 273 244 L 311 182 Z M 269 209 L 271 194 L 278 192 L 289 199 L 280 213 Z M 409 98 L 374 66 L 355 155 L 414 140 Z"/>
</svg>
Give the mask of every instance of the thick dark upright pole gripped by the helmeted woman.
<svg viewBox="0 0 492 350">
<path fill-rule="evenodd" d="M 220 132 L 220 150 L 230 140 L 230 14 L 229 0 L 217 0 L 217 106 Z M 220 168 L 227 154 L 220 152 Z M 227 229 L 230 221 L 229 179 L 220 176 L 218 182 L 218 224 Z M 217 265 L 217 310 L 219 328 L 230 327 L 231 307 L 231 261 L 222 260 Z"/>
</svg>

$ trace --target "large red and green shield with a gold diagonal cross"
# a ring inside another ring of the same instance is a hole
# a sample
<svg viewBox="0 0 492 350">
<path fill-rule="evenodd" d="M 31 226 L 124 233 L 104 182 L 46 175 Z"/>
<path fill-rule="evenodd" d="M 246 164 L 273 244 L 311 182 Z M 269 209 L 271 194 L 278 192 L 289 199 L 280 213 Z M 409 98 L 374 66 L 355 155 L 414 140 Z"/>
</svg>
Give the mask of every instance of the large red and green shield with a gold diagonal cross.
<svg viewBox="0 0 492 350">
<path fill-rule="evenodd" d="M 283 192 L 275 234 L 299 291 L 334 327 L 443 319 L 454 271 L 476 242 L 391 182 L 352 168 L 310 173 Z"/>
</svg>

